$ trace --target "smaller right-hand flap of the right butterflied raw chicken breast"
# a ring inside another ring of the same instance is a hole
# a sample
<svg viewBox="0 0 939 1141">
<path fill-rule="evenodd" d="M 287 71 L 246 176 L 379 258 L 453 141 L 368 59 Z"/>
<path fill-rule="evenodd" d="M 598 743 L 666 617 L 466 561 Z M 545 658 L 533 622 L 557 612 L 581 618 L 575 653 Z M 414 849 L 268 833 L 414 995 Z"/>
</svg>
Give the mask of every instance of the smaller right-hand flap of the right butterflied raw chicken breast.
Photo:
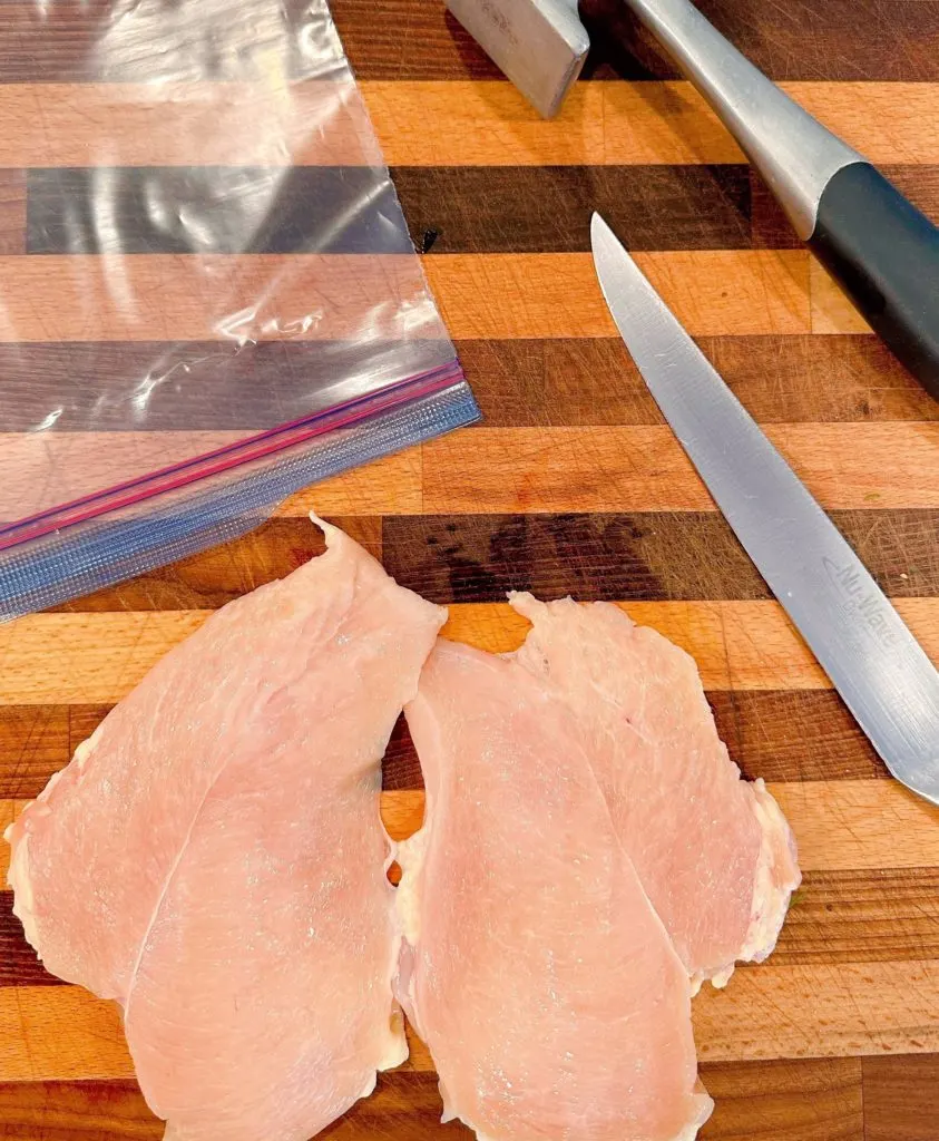
<svg viewBox="0 0 939 1141">
<path fill-rule="evenodd" d="M 620 839 L 696 986 L 772 950 L 799 885 L 763 782 L 730 760 L 694 661 L 616 606 L 510 596 L 517 659 L 575 715 Z"/>
</svg>

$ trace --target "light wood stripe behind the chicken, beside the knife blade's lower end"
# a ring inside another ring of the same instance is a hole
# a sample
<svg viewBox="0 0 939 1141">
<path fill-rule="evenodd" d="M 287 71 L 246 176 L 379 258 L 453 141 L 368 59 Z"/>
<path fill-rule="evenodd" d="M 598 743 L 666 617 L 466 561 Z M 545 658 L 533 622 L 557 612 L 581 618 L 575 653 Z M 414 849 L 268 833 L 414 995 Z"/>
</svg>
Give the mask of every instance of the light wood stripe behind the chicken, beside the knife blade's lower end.
<svg viewBox="0 0 939 1141">
<path fill-rule="evenodd" d="M 877 871 L 939 864 L 939 809 L 896 780 L 770 783 L 792 825 L 806 872 Z M 0 833 L 29 801 L 0 800 Z M 394 840 L 421 826 L 421 788 L 386 791 L 381 815 Z M 0 860 L 8 859 L 0 843 Z M 0 863 L 0 885 L 7 864 Z"/>
</svg>

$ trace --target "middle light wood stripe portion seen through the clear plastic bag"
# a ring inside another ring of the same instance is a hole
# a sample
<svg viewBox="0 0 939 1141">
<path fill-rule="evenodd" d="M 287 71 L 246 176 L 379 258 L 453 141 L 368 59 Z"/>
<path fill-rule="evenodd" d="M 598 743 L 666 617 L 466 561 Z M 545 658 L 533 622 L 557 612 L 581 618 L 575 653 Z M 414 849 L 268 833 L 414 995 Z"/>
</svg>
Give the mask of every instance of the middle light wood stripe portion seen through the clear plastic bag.
<svg viewBox="0 0 939 1141">
<path fill-rule="evenodd" d="M 49 254 L 0 258 L 0 341 L 341 339 L 363 313 L 394 338 L 392 300 L 416 307 L 410 335 L 444 335 L 411 254 Z"/>
</svg>

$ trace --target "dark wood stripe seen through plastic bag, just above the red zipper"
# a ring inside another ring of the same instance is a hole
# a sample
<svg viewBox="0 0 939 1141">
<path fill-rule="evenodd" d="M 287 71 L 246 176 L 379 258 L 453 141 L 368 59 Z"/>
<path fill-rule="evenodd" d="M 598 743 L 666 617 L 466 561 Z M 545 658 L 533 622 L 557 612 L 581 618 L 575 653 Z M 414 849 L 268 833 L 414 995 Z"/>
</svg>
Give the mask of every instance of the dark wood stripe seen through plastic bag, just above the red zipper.
<svg viewBox="0 0 939 1141">
<path fill-rule="evenodd" d="M 335 404 L 337 378 L 400 380 L 442 357 L 439 342 L 416 340 L 0 343 L 0 424 L 35 431 L 51 416 L 57 432 L 258 431 Z"/>
</svg>

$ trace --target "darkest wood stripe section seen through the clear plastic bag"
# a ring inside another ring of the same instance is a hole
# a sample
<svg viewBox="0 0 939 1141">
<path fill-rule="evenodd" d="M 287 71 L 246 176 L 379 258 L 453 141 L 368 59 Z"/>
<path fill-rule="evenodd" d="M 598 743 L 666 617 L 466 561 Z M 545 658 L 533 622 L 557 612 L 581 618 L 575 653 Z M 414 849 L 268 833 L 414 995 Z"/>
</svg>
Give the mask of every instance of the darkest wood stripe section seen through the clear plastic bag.
<svg viewBox="0 0 939 1141">
<path fill-rule="evenodd" d="M 371 167 L 39 168 L 26 203 L 29 253 L 411 251 Z"/>
</svg>

